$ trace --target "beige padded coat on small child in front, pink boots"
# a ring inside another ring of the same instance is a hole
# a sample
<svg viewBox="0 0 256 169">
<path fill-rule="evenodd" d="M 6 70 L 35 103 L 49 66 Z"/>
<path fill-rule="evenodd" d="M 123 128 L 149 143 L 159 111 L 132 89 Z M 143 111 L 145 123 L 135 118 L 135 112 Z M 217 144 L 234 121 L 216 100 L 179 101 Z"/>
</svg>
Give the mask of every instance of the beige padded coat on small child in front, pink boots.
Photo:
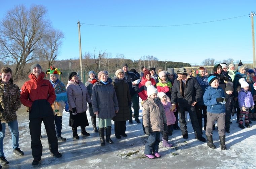
<svg viewBox="0 0 256 169">
<path fill-rule="evenodd" d="M 142 119 L 144 127 L 149 127 L 149 132 L 163 130 L 163 123 L 167 123 L 167 119 L 159 98 L 156 103 L 153 99 L 147 98 L 143 103 Z"/>
</svg>

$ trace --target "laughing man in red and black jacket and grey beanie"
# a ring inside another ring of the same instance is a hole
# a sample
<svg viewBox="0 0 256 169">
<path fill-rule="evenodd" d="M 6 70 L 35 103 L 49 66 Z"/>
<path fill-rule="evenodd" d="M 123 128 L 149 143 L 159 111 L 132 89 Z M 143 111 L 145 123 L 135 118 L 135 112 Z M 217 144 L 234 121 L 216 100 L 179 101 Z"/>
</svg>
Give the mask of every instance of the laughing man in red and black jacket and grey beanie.
<svg viewBox="0 0 256 169">
<path fill-rule="evenodd" d="M 43 147 L 40 141 L 41 123 L 43 121 L 48 136 L 51 156 L 62 157 L 58 152 L 53 110 L 51 104 L 56 99 L 54 89 L 49 80 L 43 79 L 45 73 L 39 64 L 31 66 L 30 80 L 22 86 L 21 102 L 30 108 L 29 129 L 31 135 L 31 149 L 34 158 L 32 165 L 37 165 L 42 157 Z"/>
</svg>

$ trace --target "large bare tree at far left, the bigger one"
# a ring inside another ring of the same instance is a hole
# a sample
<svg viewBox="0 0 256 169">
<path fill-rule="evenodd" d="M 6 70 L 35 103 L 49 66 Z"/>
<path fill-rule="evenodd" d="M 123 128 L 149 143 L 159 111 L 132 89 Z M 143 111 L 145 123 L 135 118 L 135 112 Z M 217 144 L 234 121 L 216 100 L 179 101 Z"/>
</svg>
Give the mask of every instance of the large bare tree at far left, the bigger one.
<svg viewBox="0 0 256 169">
<path fill-rule="evenodd" d="M 25 64 L 34 59 L 33 51 L 46 35 L 49 22 L 46 9 L 41 5 L 16 6 L 7 12 L 0 23 L 0 58 L 5 63 L 15 64 L 13 78 L 25 76 Z"/>
</svg>

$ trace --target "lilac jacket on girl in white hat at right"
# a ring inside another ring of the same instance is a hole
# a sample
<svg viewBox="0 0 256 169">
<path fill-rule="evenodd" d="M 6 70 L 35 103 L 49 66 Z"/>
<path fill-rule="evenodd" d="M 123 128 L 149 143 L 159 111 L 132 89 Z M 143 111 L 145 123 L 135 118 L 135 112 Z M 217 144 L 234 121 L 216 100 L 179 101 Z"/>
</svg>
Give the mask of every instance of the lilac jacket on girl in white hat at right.
<svg viewBox="0 0 256 169">
<path fill-rule="evenodd" d="M 252 107 L 254 106 L 254 101 L 252 97 L 252 93 L 250 91 L 245 91 L 244 89 L 240 89 L 238 93 L 238 105 L 239 107 Z"/>
</svg>

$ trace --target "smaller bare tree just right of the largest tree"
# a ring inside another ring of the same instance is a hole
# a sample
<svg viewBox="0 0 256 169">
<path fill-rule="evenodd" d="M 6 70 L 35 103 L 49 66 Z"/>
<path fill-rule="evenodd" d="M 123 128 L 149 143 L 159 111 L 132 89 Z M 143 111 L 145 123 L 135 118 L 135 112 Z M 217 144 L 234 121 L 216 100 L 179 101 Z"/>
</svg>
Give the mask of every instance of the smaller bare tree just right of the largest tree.
<svg viewBox="0 0 256 169">
<path fill-rule="evenodd" d="M 55 62 L 63 38 L 64 35 L 60 30 L 51 29 L 47 36 L 39 41 L 40 48 L 38 48 L 37 54 L 41 60 L 48 62 L 48 67 Z"/>
</svg>

